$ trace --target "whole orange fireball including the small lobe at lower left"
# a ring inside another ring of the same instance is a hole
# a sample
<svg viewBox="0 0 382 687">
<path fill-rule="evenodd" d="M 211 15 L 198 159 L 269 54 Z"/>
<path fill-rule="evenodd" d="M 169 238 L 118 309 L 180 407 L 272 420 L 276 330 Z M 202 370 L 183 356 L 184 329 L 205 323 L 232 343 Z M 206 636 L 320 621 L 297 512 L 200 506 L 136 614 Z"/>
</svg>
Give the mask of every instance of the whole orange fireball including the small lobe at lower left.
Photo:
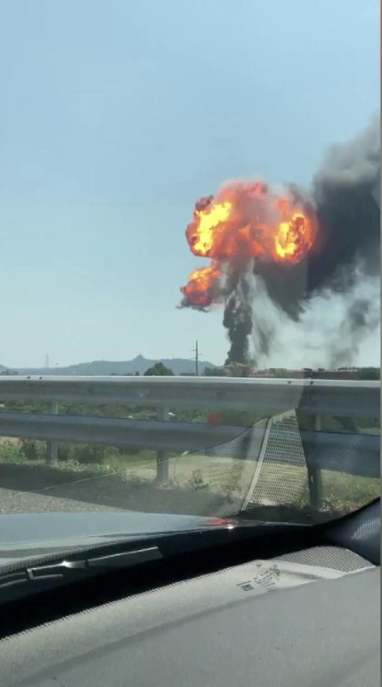
<svg viewBox="0 0 382 687">
<path fill-rule="evenodd" d="M 234 181 L 216 196 L 205 196 L 194 207 L 186 230 L 196 256 L 212 258 L 209 267 L 192 272 L 181 291 L 187 304 L 208 306 L 223 300 L 221 263 L 247 269 L 261 262 L 301 262 L 315 243 L 317 219 L 311 208 L 288 195 L 280 196 L 262 181 Z"/>
</svg>

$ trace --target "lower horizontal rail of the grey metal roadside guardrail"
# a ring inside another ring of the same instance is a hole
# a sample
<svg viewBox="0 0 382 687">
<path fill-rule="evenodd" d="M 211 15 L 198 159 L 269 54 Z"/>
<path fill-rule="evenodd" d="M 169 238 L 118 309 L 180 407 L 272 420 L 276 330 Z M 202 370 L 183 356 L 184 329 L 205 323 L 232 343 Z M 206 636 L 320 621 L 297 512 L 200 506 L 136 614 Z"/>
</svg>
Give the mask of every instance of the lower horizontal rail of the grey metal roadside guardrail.
<svg viewBox="0 0 382 687">
<path fill-rule="evenodd" d="M 106 446 L 124 446 L 129 449 L 153 451 L 205 451 L 232 440 L 262 438 L 257 427 L 207 425 L 205 423 L 158 422 L 157 420 L 122 420 L 66 415 L 35 415 L 27 413 L 0 413 L 0 434 L 8 437 L 39 439 L 56 442 L 79 442 Z M 379 436 L 368 434 L 348 435 L 326 431 L 300 431 L 308 465 L 312 469 L 341 471 L 344 462 L 341 452 L 346 449 L 361 451 L 362 460 L 348 462 L 348 472 L 375 477 L 379 458 Z M 348 439 L 351 437 L 351 442 Z M 283 437 L 284 448 L 289 449 L 294 438 Z M 290 453 L 290 451 L 289 451 Z"/>
</svg>

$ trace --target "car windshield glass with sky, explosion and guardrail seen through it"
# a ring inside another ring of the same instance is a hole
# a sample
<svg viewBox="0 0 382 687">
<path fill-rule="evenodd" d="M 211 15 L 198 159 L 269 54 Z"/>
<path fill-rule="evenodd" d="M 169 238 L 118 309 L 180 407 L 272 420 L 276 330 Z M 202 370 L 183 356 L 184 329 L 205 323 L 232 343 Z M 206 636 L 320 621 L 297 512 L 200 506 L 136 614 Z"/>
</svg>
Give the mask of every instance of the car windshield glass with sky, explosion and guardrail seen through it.
<svg viewBox="0 0 382 687">
<path fill-rule="evenodd" d="M 3 3 L 2 515 L 379 497 L 379 6 L 274 10 Z"/>
</svg>

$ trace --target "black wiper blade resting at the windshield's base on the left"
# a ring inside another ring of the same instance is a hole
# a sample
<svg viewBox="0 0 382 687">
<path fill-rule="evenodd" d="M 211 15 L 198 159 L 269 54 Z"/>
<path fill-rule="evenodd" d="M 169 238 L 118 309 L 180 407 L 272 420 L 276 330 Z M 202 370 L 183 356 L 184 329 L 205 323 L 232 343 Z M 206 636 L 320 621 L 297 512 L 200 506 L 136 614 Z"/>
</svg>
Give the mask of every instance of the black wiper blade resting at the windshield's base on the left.
<svg viewBox="0 0 382 687">
<path fill-rule="evenodd" d="M 163 558 L 157 546 L 148 548 L 133 549 L 116 554 L 106 554 L 105 556 L 87 556 L 79 561 L 58 561 L 49 565 L 33 565 L 25 567 L 18 572 L 0 574 L 0 589 L 14 585 L 30 582 L 54 581 L 63 578 L 78 578 L 82 573 L 107 572 L 148 563 L 149 561 L 159 561 Z"/>
</svg>

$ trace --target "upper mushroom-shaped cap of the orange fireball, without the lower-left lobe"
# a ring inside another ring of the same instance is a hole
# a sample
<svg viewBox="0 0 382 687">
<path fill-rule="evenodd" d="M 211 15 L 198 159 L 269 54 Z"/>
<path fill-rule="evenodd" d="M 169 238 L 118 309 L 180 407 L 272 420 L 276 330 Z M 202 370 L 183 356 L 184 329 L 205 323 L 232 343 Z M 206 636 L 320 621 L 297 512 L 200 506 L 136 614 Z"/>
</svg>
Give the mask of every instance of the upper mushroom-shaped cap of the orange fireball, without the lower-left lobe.
<svg viewBox="0 0 382 687">
<path fill-rule="evenodd" d="M 302 206 L 276 196 L 265 184 L 237 182 L 196 203 L 186 236 L 197 256 L 300 262 L 315 232 L 315 218 Z"/>
</svg>

